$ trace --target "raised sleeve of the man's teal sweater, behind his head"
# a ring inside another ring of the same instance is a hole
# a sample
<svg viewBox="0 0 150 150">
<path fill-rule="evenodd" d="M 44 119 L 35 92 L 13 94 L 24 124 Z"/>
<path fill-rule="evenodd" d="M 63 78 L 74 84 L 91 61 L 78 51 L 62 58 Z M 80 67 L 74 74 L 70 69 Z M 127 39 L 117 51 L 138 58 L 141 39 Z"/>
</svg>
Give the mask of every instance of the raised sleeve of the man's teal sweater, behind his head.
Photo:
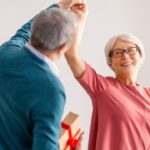
<svg viewBox="0 0 150 150">
<path fill-rule="evenodd" d="M 57 4 L 51 5 L 49 8 L 59 7 Z M 48 9 L 49 9 L 48 8 Z M 3 45 L 13 45 L 22 48 L 31 38 L 31 25 L 34 18 L 24 24 L 10 40 Z"/>
</svg>

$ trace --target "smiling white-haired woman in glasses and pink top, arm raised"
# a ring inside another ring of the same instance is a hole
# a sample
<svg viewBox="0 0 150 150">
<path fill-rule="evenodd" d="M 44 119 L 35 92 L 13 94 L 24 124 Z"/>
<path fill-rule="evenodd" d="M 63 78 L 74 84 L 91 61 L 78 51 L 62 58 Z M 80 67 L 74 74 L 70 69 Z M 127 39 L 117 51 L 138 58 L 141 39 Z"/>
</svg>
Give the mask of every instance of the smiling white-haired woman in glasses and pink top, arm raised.
<svg viewBox="0 0 150 150">
<path fill-rule="evenodd" d="M 150 150 L 150 88 L 136 82 L 143 45 L 131 34 L 114 36 L 105 54 L 115 77 L 98 74 L 78 53 L 86 12 L 78 16 L 80 25 L 65 57 L 93 104 L 88 150 Z"/>
</svg>

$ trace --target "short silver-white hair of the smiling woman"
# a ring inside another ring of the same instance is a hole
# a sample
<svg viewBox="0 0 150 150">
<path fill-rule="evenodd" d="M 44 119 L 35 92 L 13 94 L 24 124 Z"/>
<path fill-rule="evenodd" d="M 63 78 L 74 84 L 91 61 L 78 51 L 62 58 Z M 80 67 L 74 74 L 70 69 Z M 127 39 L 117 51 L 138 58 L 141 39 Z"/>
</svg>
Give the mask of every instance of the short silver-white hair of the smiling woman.
<svg viewBox="0 0 150 150">
<path fill-rule="evenodd" d="M 106 61 L 107 64 L 111 64 L 111 57 L 110 57 L 110 52 L 114 48 L 115 44 L 117 41 L 125 41 L 125 42 L 130 42 L 135 44 L 139 48 L 139 53 L 142 58 L 142 61 L 145 59 L 145 53 L 144 53 L 144 46 L 142 42 L 134 35 L 131 33 L 122 33 L 118 34 L 116 36 L 113 36 L 106 44 L 105 46 L 105 56 L 106 56 Z"/>
</svg>

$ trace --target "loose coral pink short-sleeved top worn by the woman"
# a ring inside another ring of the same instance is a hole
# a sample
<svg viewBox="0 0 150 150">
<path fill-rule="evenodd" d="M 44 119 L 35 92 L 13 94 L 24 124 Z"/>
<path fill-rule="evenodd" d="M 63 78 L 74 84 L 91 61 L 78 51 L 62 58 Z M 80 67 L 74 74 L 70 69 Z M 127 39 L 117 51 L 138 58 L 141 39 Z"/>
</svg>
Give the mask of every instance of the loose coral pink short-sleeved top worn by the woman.
<svg viewBox="0 0 150 150">
<path fill-rule="evenodd" d="M 88 64 L 78 81 L 93 105 L 88 150 L 150 150 L 150 88 L 103 77 Z"/>
</svg>

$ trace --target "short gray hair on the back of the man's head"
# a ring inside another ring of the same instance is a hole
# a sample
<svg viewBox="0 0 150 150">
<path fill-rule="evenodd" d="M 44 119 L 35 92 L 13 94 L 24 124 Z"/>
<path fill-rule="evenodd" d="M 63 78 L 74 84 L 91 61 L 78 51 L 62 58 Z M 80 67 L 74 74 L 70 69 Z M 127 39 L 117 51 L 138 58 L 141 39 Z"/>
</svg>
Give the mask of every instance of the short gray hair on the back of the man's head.
<svg viewBox="0 0 150 150">
<path fill-rule="evenodd" d="M 31 45 L 36 49 L 55 50 L 69 42 L 76 29 L 75 14 L 61 8 L 39 13 L 31 27 Z"/>
</svg>

